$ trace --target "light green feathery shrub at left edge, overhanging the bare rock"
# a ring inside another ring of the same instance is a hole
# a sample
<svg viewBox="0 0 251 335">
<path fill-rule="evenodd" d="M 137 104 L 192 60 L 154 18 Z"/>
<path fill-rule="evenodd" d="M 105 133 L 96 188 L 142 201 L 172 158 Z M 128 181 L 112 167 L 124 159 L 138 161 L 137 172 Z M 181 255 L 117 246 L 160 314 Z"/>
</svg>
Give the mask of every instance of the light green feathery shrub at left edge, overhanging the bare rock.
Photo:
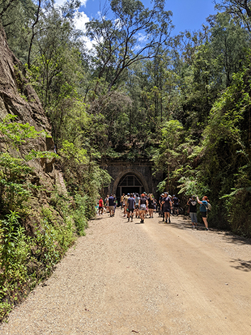
<svg viewBox="0 0 251 335">
<path fill-rule="evenodd" d="M 16 116 L 8 115 L 0 123 L 0 133 L 4 136 L 7 148 L 16 150 L 20 158 L 8 152 L 0 152 L 0 209 L 4 212 L 20 211 L 26 201 L 37 188 L 28 181 L 33 169 L 26 163 L 28 160 L 38 158 L 57 158 L 55 153 L 30 150 L 26 158 L 22 158 L 22 145 L 28 139 L 47 136 L 45 131 L 35 131 L 28 123 L 18 123 Z"/>
</svg>

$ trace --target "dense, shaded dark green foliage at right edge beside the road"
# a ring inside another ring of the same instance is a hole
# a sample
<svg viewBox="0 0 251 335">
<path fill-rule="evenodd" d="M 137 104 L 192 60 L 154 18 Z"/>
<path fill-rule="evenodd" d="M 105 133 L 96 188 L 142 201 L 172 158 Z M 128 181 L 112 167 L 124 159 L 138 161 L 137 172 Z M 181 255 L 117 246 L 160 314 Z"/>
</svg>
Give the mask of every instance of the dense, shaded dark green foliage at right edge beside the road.
<svg viewBox="0 0 251 335">
<path fill-rule="evenodd" d="M 250 234 L 249 219 L 242 216 L 244 209 L 249 213 L 245 190 L 251 177 L 250 104 L 250 69 L 245 68 L 233 75 L 232 84 L 211 110 L 197 167 L 197 180 L 208 188 L 206 194 L 216 209 L 211 222 L 245 234 Z"/>
</svg>

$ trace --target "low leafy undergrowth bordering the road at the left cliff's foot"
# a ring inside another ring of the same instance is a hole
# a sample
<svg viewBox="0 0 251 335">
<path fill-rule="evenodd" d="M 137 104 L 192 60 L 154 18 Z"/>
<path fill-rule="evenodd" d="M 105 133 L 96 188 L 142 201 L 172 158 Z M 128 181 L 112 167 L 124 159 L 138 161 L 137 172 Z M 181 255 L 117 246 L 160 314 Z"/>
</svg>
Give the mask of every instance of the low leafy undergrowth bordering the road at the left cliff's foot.
<svg viewBox="0 0 251 335">
<path fill-rule="evenodd" d="M 16 212 L 0 220 L 0 319 L 30 288 L 50 275 L 75 241 L 74 212 L 69 199 L 55 192 L 52 204 L 53 207 L 41 209 L 36 224 L 34 217 L 33 236 L 27 235 Z"/>
</svg>

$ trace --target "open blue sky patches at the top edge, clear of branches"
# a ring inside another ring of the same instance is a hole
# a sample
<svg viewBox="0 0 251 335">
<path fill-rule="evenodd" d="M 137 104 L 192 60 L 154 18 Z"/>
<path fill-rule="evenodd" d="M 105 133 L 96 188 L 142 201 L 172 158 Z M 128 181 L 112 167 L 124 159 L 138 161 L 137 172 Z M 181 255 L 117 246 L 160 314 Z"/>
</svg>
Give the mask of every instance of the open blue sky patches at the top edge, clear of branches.
<svg viewBox="0 0 251 335">
<path fill-rule="evenodd" d="M 141 0 L 145 7 L 150 7 L 150 0 Z M 107 1 L 108 2 L 108 1 Z M 96 17 L 105 0 L 85 0 L 80 11 L 88 18 Z M 172 11 L 172 22 L 175 26 L 174 34 L 180 31 L 194 31 L 206 23 L 206 18 L 214 11 L 213 0 L 166 0 L 167 11 Z"/>
</svg>

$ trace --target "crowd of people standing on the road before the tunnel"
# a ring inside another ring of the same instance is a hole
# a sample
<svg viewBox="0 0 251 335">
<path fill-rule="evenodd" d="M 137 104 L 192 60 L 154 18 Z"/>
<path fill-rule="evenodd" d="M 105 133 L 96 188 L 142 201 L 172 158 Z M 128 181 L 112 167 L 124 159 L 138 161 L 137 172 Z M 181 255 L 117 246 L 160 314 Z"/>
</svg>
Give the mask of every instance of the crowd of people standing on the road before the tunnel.
<svg viewBox="0 0 251 335">
<path fill-rule="evenodd" d="M 187 202 L 192 227 L 196 228 L 198 226 L 196 216 L 197 204 L 200 204 L 203 223 L 205 224 L 205 229 L 208 230 L 207 214 L 208 210 L 211 209 L 211 205 L 206 196 L 200 201 L 199 197 L 193 195 Z M 173 208 L 176 209 L 179 215 L 179 198 L 175 195 L 171 196 L 168 192 L 162 193 L 158 201 L 153 194 L 146 194 L 146 192 L 143 194 L 123 193 L 119 203 L 115 194 L 107 194 L 106 199 L 103 200 L 102 197 L 99 199 L 98 214 L 102 215 L 106 212 L 110 214 L 110 216 L 114 216 L 116 207 L 118 206 L 121 206 L 123 216 L 126 216 L 128 221 L 133 221 L 135 214 L 135 218 L 140 219 L 141 224 L 144 223 L 146 217 L 153 218 L 154 212 L 158 212 L 159 216 L 162 216 L 162 221 L 166 224 L 171 223 L 170 214 L 172 214 Z"/>
</svg>

